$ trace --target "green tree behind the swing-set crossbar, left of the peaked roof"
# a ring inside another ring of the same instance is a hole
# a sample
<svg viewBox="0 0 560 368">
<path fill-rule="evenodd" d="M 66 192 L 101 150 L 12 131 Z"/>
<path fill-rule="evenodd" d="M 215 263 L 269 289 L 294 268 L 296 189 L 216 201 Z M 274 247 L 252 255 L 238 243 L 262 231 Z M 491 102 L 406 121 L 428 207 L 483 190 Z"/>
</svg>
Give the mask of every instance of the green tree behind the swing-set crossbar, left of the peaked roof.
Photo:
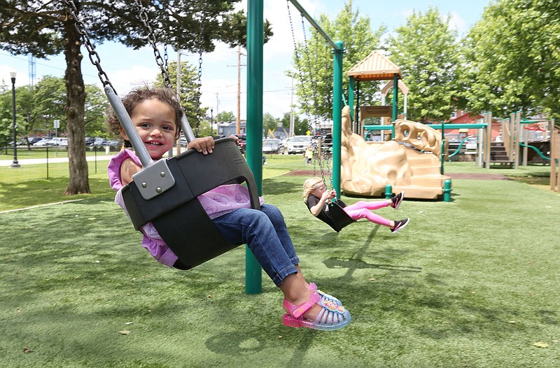
<svg viewBox="0 0 560 368">
<path fill-rule="evenodd" d="M 295 19 L 292 19 L 292 23 L 297 27 L 298 22 Z M 344 43 L 343 73 L 379 48 L 381 36 L 385 32 L 384 26 L 379 27 L 377 31 L 372 31 L 370 18 L 361 17 L 358 8 L 352 10 L 351 0 L 344 4 L 344 8 L 334 21 L 330 21 L 327 15 L 322 14 L 318 17 L 317 23 L 332 41 Z M 294 70 L 288 71 L 288 76 L 298 82 L 295 92 L 301 103 L 301 113 L 324 120 L 332 118 L 332 63 L 333 56 L 329 43 L 311 27 L 307 40 L 296 42 L 293 56 Z M 347 90 L 348 78 L 344 75 L 342 82 L 343 90 Z M 363 86 L 361 93 L 366 99 L 371 99 L 377 90 L 377 83 L 369 83 Z"/>
</svg>

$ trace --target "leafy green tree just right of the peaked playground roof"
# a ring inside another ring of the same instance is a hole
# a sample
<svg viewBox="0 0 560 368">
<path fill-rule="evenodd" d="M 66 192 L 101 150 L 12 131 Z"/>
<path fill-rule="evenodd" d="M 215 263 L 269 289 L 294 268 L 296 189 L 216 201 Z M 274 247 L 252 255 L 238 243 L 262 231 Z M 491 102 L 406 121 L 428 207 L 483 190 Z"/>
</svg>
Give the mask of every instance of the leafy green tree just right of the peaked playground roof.
<svg viewBox="0 0 560 368">
<path fill-rule="evenodd" d="M 409 120 L 446 120 L 454 111 L 459 48 L 449 20 L 434 7 L 424 14 L 415 11 L 388 38 L 389 57 L 400 66 L 409 87 Z"/>
</svg>

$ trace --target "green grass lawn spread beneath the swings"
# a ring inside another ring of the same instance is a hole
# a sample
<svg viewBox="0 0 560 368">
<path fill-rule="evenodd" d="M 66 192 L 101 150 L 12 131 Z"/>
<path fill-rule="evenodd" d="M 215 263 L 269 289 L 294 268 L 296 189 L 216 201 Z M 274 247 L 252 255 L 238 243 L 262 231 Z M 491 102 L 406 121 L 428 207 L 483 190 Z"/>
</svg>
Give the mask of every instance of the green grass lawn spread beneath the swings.
<svg viewBox="0 0 560 368">
<path fill-rule="evenodd" d="M 265 199 L 283 212 L 308 280 L 352 313 L 349 327 L 284 327 L 265 274 L 262 293 L 246 295 L 244 247 L 190 271 L 153 261 L 104 169 L 93 194 L 69 198 L 67 164 L 49 179 L 34 174 L 41 165 L 1 167 L 0 211 L 81 200 L 0 213 L 0 367 L 559 367 L 558 194 L 454 180 L 451 202 L 376 211 L 411 218 L 398 234 L 361 221 L 335 233 L 302 203 L 305 177 L 284 175 L 309 168 L 302 157 L 267 162 Z M 446 164 L 549 172 L 506 170 Z"/>
</svg>

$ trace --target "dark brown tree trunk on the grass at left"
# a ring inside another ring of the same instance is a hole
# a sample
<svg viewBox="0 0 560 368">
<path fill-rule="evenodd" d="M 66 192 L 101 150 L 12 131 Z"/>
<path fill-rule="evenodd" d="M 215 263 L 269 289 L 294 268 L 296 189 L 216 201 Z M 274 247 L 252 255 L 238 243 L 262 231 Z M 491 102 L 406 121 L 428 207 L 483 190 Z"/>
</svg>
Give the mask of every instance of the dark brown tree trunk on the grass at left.
<svg viewBox="0 0 560 368">
<path fill-rule="evenodd" d="M 87 161 L 85 160 L 84 106 L 85 86 L 83 83 L 80 52 L 80 34 L 74 28 L 74 20 L 64 22 L 66 30 L 66 131 L 68 133 L 68 159 L 70 181 L 64 194 L 90 192 L 87 178 Z"/>
</svg>

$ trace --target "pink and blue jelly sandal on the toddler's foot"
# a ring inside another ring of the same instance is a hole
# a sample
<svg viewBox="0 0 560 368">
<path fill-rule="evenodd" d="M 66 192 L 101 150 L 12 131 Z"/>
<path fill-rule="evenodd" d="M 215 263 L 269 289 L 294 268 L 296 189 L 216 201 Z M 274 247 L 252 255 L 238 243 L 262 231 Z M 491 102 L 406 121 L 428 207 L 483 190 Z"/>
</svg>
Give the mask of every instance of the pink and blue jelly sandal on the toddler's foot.
<svg viewBox="0 0 560 368">
<path fill-rule="evenodd" d="M 315 320 L 304 319 L 303 313 L 314 304 L 321 306 L 321 312 Z M 321 299 L 321 295 L 316 290 L 311 291 L 311 297 L 303 304 L 296 306 L 284 299 L 283 306 L 288 313 L 282 316 L 282 322 L 288 327 L 307 327 L 314 330 L 330 331 L 345 327 L 351 321 L 350 312 L 344 306 L 339 306 L 330 300 Z"/>
</svg>

